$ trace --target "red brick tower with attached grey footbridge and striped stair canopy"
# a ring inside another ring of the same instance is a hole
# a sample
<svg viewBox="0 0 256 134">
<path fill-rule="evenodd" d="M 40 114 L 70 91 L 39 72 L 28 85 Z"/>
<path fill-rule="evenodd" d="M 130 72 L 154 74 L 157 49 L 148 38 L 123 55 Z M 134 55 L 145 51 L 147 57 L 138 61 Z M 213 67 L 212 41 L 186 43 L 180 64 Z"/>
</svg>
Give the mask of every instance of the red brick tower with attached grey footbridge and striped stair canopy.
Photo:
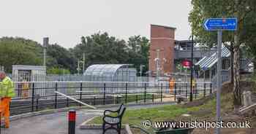
<svg viewBox="0 0 256 134">
<path fill-rule="evenodd" d="M 216 86 L 217 77 L 217 48 L 200 47 L 196 41 L 175 39 L 176 28 L 164 25 L 151 25 L 151 44 L 149 49 L 148 75 L 170 76 L 182 72 L 182 62 L 191 63 L 193 45 L 194 76 L 209 78 Z M 230 52 L 222 47 L 222 82 L 230 79 Z M 247 58 L 241 58 L 241 71 L 248 71 L 252 62 Z M 187 69 L 190 69 L 189 67 Z M 199 70 L 198 70 L 199 69 Z M 186 72 L 185 72 L 186 73 Z M 182 72 L 184 74 L 184 72 Z"/>
</svg>

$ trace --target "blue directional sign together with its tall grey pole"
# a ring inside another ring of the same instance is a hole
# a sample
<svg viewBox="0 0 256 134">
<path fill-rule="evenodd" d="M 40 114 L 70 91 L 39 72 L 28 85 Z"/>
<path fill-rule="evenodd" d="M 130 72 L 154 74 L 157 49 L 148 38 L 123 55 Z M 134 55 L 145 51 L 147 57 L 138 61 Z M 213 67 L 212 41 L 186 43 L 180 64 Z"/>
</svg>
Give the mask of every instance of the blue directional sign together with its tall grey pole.
<svg viewBox="0 0 256 134">
<path fill-rule="evenodd" d="M 203 27 L 206 31 L 218 31 L 218 63 L 217 63 L 217 122 L 221 121 L 220 113 L 220 94 L 222 88 L 222 31 L 236 31 L 237 18 L 209 18 L 203 23 Z M 216 133 L 220 133 L 220 128 L 217 127 Z"/>
</svg>

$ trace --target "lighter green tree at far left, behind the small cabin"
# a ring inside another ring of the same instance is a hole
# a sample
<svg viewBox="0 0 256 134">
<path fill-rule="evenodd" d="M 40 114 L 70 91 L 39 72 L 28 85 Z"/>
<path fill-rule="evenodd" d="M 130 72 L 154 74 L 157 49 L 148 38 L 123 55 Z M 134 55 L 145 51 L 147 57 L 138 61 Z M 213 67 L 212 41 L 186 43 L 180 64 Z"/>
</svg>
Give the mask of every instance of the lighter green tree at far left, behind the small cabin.
<svg viewBox="0 0 256 134">
<path fill-rule="evenodd" d="M 42 46 L 29 39 L 2 37 L 0 64 L 7 73 L 12 72 L 12 65 L 42 65 Z"/>
</svg>

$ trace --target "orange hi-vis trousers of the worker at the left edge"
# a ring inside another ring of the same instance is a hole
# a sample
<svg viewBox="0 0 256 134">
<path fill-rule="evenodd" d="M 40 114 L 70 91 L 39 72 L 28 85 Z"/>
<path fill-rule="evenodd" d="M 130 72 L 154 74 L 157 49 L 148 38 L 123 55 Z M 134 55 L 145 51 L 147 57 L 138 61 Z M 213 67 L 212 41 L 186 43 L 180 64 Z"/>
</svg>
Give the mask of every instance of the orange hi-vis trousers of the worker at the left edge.
<svg viewBox="0 0 256 134">
<path fill-rule="evenodd" d="M 0 111 L 1 111 L 1 116 L 0 116 L 0 121 L 1 117 L 4 117 L 4 124 L 6 128 L 10 127 L 10 101 L 11 98 L 1 98 L 0 102 Z"/>
</svg>

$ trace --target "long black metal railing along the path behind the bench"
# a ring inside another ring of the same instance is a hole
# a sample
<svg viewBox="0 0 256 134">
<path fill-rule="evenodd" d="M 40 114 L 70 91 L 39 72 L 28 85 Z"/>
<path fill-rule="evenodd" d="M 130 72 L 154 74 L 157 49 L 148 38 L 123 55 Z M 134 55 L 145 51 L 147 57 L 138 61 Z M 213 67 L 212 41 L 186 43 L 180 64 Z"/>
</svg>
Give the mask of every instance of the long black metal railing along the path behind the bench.
<svg viewBox="0 0 256 134">
<path fill-rule="evenodd" d="M 197 83 L 193 98 L 202 98 L 212 92 L 211 83 Z M 55 91 L 62 92 L 89 105 L 117 103 L 173 103 L 177 98 L 188 100 L 190 84 L 176 82 L 170 89 L 162 82 L 15 82 L 16 97 L 12 99 L 11 114 L 23 114 L 44 109 L 81 106 Z"/>
</svg>

